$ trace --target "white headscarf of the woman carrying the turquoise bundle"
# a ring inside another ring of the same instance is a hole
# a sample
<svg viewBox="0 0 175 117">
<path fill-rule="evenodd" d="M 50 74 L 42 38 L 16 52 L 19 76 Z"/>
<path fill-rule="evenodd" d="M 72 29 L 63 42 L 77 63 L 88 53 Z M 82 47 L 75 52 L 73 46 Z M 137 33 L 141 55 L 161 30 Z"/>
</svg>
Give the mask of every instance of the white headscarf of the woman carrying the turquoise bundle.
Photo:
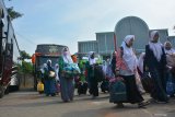
<svg viewBox="0 0 175 117">
<path fill-rule="evenodd" d="M 66 47 L 67 48 L 67 47 Z M 65 49 L 66 48 L 63 48 L 62 49 L 62 58 L 63 58 L 63 61 L 66 62 L 66 63 L 73 63 L 73 60 L 72 60 L 72 58 L 71 58 L 71 55 L 70 55 L 70 51 L 69 51 L 69 49 L 67 48 L 67 54 L 65 54 Z"/>
</svg>

